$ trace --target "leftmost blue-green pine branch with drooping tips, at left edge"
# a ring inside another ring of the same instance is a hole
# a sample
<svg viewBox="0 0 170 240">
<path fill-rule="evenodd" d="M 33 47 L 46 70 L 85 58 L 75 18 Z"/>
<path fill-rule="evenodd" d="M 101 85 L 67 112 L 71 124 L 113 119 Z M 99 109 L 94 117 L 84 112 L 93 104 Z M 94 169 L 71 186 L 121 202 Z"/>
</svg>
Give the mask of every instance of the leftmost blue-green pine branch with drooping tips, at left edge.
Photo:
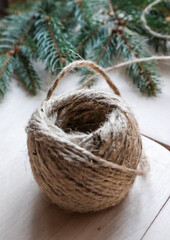
<svg viewBox="0 0 170 240">
<path fill-rule="evenodd" d="M 0 78 L 1 96 L 8 89 L 9 80 L 14 70 L 18 70 L 18 75 L 30 91 L 35 92 L 35 88 L 39 88 L 38 77 L 29 60 L 30 58 L 36 59 L 36 54 L 25 45 L 31 42 L 28 39 L 33 21 L 32 15 L 29 14 L 11 15 L 3 20 L 4 29 L 0 39 L 0 53 L 2 60 L 3 56 L 6 60 L 0 71 L 2 75 Z M 20 58 L 20 64 L 18 58 Z"/>
</svg>

